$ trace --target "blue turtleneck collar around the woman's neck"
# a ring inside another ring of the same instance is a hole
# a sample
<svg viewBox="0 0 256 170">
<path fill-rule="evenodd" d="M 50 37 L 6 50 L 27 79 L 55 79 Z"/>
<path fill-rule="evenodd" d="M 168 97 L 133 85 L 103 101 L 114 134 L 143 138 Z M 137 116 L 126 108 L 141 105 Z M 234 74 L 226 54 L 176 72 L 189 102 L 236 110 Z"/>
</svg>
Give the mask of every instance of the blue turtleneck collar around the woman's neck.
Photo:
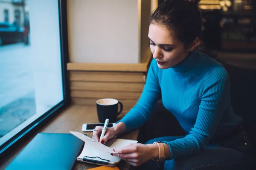
<svg viewBox="0 0 256 170">
<path fill-rule="evenodd" d="M 198 51 L 193 50 L 183 62 L 171 67 L 171 69 L 173 69 L 177 73 L 185 73 L 187 71 L 190 71 L 195 65 L 195 60 L 197 56 Z"/>
</svg>

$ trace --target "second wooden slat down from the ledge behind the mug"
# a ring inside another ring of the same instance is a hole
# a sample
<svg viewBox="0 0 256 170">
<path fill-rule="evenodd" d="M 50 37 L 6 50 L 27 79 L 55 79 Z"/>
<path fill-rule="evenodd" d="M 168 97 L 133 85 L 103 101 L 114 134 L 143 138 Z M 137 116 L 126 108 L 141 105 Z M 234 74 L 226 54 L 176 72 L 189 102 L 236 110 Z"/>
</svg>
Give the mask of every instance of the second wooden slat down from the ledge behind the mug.
<svg viewBox="0 0 256 170">
<path fill-rule="evenodd" d="M 142 92 L 143 88 L 143 83 L 70 82 L 71 90 Z"/>
</svg>

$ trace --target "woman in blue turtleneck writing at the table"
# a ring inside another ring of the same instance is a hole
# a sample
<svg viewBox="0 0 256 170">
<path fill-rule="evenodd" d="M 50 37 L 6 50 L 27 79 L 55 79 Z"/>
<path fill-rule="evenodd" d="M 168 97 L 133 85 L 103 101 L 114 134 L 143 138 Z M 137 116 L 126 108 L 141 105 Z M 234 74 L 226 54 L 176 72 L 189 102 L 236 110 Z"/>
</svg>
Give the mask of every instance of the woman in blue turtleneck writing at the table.
<svg viewBox="0 0 256 170">
<path fill-rule="evenodd" d="M 143 164 L 143 169 L 156 169 L 154 162 L 161 161 L 165 170 L 218 166 L 232 169 L 242 160 L 249 144 L 241 128 L 242 119 L 230 105 L 228 74 L 221 64 L 195 50 L 201 28 L 196 3 L 161 3 L 149 20 L 148 37 L 154 59 L 138 103 L 114 127 L 108 128 L 102 141 L 102 127 L 93 132 L 93 139 L 105 143 L 141 127 L 161 92 L 164 107 L 177 118 L 186 136 L 131 144 L 114 149 L 116 153 L 111 155 L 134 166 Z"/>
</svg>

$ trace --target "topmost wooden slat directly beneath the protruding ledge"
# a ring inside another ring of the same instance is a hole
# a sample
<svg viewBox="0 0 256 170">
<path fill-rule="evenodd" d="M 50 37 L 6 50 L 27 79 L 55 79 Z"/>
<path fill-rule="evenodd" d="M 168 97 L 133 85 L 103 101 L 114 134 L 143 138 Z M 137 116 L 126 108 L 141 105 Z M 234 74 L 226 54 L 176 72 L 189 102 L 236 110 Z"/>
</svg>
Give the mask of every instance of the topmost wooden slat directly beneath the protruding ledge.
<svg viewBox="0 0 256 170">
<path fill-rule="evenodd" d="M 70 81 L 145 83 L 145 76 L 143 73 L 70 71 Z"/>
</svg>

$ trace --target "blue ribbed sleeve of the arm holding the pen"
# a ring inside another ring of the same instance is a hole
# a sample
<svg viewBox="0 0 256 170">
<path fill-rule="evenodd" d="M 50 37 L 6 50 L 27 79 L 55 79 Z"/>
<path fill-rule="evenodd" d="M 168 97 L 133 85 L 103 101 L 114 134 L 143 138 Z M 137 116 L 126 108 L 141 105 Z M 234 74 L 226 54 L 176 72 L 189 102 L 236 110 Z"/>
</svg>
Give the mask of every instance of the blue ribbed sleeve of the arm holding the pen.
<svg viewBox="0 0 256 170">
<path fill-rule="evenodd" d="M 159 69 L 157 62 L 153 59 L 148 70 L 146 83 L 140 99 L 137 104 L 120 120 L 125 124 L 126 132 L 144 125 L 157 102 L 160 94 L 157 69 Z"/>
</svg>

